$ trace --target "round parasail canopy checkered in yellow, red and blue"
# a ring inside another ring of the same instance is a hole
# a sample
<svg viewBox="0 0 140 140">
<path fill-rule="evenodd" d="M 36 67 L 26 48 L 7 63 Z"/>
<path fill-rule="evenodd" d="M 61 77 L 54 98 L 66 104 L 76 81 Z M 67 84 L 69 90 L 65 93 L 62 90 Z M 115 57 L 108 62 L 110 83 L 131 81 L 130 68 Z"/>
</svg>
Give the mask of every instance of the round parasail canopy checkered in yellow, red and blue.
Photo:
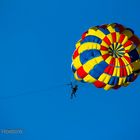
<svg viewBox="0 0 140 140">
<path fill-rule="evenodd" d="M 140 40 L 118 23 L 92 27 L 76 43 L 72 71 L 76 80 L 105 90 L 127 86 L 140 72 Z"/>
</svg>

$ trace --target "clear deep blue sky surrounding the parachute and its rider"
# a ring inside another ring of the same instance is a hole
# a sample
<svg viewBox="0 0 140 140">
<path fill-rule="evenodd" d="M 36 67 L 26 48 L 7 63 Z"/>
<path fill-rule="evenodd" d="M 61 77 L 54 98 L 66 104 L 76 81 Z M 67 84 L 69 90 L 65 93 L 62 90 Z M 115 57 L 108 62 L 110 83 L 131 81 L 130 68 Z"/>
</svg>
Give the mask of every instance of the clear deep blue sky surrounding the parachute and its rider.
<svg viewBox="0 0 140 140">
<path fill-rule="evenodd" d="M 83 85 L 70 100 L 71 55 L 91 26 L 118 22 L 140 36 L 138 0 L 1 0 L 1 140 L 139 140 L 140 78 L 127 88 Z"/>
</svg>

